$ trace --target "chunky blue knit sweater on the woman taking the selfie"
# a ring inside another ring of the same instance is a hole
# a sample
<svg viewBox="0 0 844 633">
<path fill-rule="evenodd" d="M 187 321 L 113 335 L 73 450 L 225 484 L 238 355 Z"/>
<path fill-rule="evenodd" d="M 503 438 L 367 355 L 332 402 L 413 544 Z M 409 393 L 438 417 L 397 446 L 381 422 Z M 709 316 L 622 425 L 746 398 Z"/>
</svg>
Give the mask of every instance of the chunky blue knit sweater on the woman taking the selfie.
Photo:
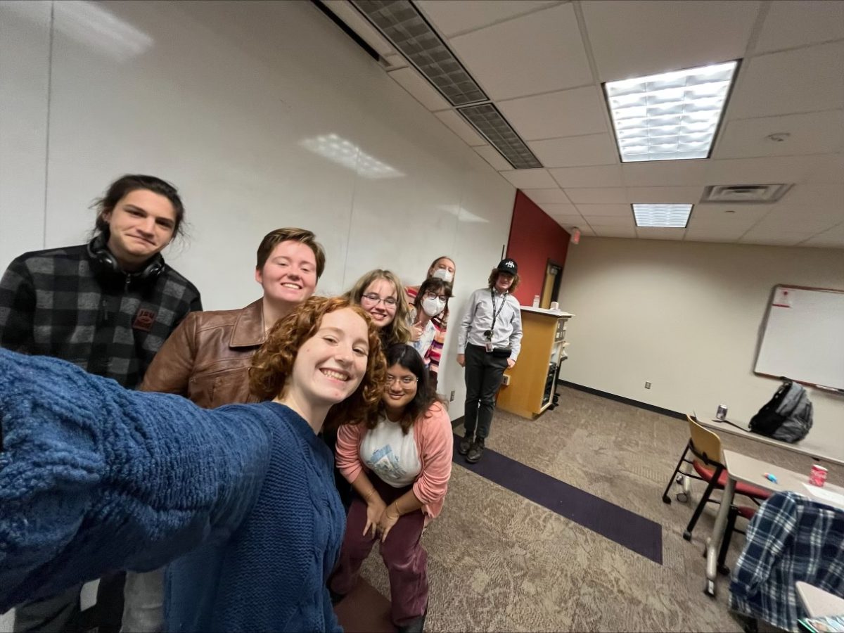
<svg viewBox="0 0 844 633">
<path fill-rule="evenodd" d="M 168 630 L 338 630 L 333 457 L 289 408 L 208 411 L 0 349 L 0 423 L 0 613 L 176 559 Z"/>
</svg>

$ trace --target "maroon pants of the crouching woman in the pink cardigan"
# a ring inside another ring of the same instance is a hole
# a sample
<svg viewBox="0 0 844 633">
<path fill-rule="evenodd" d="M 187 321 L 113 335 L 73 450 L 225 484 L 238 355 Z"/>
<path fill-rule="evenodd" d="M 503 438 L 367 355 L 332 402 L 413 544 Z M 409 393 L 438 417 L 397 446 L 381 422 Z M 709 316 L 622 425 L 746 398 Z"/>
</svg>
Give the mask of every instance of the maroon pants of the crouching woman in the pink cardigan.
<svg viewBox="0 0 844 633">
<path fill-rule="evenodd" d="M 410 490 L 410 486 L 393 488 L 375 474 L 370 474 L 370 480 L 387 505 Z M 376 544 L 370 533 L 363 533 L 365 525 L 366 502 L 355 494 L 346 518 L 340 560 L 328 581 L 333 592 L 345 595 L 352 590 L 360 565 Z M 392 623 L 397 626 L 410 624 L 424 614 L 428 606 L 428 553 L 419 544 L 423 527 L 425 515 L 421 510 L 403 514 L 381 544 L 381 558 L 390 576 L 390 614 Z"/>
</svg>

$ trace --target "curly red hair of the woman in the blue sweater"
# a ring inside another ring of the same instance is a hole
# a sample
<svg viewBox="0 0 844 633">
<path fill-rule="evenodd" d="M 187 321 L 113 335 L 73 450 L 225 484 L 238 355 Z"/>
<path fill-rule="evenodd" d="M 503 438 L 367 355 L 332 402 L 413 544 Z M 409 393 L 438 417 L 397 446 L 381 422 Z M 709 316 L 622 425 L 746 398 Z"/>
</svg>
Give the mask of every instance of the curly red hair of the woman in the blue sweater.
<svg viewBox="0 0 844 633">
<path fill-rule="evenodd" d="M 359 424 L 376 415 L 387 380 L 387 360 L 381 351 L 378 328 L 369 314 L 344 297 L 312 296 L 273 325 L 266 342 L 252 357 L 252 368 L 249 370 L 252 393 L 261 400 L 272 400 L 284 392 L 287 376 L 293 372 L 299 348 L 317 333 L 322 317 L 328 312 L 344 308 L 353 310 L 366 322 L 369 357 L 360 385 L 349 398 L 329 410 L 323 429 L 338 424 Z"/>
</svg>

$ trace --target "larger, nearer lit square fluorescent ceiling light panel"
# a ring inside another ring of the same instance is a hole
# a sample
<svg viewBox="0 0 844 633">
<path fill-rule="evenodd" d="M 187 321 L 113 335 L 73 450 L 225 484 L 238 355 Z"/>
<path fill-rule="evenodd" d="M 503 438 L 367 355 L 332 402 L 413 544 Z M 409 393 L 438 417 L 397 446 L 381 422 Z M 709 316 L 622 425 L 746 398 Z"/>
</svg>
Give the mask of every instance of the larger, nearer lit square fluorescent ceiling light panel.
<svg viewBox="0 0 844 633">
<path fill-rule="evenodd" d="M 621 162 L 707 158 L 738 62 L 603 84 Z"/>
</svg>

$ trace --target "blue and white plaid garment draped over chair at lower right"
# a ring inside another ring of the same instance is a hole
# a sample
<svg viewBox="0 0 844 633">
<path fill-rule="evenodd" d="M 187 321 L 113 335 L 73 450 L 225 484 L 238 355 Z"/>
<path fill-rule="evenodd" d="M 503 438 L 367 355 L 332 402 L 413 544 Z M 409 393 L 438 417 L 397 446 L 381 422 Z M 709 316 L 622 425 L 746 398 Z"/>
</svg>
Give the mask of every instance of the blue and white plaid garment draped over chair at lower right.
<svg viewBox="0 0 844 633">
<path fill-rule="evenodd" d="M 730 608 L 785 630 L 805 618 L 795 583 L 844 596 L 844 511 L 793 492 L 772 495 L 747 528 Z"/>
</svg>

